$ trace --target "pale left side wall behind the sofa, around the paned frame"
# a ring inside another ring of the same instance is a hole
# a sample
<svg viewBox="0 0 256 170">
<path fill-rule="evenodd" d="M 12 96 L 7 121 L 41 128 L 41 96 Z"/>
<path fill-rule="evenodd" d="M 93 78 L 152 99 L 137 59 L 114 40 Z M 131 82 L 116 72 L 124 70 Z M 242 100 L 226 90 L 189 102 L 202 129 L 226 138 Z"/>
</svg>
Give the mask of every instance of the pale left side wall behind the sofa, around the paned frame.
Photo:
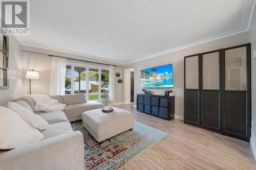
<svg viewBox="0 0 256 170">
<path fill-rule="evenodd" d="M 22 72 L 22 53 L 20 44 L 14 36 L 9 36 L 9 71 L 10 88 L 0 90 L 0 106 L 6 106 L 8 101 L 13 101 L 17 95 L 23 94 Z"/>
</svg>

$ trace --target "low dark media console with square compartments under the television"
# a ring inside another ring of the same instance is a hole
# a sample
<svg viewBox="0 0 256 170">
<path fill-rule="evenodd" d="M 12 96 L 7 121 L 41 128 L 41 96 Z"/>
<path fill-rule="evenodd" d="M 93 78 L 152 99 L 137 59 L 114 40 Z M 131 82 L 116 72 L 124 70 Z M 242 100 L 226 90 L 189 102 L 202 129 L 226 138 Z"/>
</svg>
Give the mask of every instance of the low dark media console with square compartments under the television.
<svg viewBox="0 0 256 170">
<path fill-rule="evenodd" d="M 175 112 L 175 96 L 137 94 L 137 111 L 171 120 Z"/>
</svg>

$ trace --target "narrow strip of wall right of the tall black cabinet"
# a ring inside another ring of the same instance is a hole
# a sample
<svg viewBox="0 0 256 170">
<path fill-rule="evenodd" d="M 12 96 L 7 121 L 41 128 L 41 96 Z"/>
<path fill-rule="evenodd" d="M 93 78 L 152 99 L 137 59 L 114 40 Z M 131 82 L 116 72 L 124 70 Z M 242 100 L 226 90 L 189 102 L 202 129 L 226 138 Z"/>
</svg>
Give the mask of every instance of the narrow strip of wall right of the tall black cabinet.
<svg viewBox="0 0 256 170">
<path fill-rule="evenodd" d="M 249 41 L 251 42 L 251 120 L 253 121 L 251 136 L 254 137 L 253 141 L 251 141 L 251 145 L 256 159 L 256 58 L 253 57 L 253 51 L 256 51 L 256 10 L 254 10 L 251 21 Z"/>
</svg>

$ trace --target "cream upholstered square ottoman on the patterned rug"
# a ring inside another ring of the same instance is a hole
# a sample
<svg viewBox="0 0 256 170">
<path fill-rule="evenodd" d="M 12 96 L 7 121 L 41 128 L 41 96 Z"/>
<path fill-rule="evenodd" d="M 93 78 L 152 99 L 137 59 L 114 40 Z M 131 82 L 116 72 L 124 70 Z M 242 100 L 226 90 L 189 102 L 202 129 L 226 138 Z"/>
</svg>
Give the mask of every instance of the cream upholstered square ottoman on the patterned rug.
<svg viewBox="0 0 256 170">
<path fill-rule="evenodd" d="M 113 109 L 110 113 L 103 113 L 101 109 L 82 113 L 83 126 L 99 144 L 121 132 L 133 130 L 134 115 L 116 107 Z"/>
</svg>

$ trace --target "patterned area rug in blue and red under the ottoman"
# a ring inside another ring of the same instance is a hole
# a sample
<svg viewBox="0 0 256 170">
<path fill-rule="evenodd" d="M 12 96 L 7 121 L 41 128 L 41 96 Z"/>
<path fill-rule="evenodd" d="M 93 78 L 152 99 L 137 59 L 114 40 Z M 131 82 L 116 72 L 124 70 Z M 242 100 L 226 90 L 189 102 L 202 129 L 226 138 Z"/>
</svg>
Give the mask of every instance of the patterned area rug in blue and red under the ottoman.
<svg viewBox="0 0 256 170">
<path fill-rule="evenodd" d="M 74 131 L 83 134 L 84 169 L 118 169 L 167 135 L 135 121 L 132 131 L 120 133 L 99 145 L 83 127 L 81 120 L 72 122 L 71 126 Z"/>
</svg>

